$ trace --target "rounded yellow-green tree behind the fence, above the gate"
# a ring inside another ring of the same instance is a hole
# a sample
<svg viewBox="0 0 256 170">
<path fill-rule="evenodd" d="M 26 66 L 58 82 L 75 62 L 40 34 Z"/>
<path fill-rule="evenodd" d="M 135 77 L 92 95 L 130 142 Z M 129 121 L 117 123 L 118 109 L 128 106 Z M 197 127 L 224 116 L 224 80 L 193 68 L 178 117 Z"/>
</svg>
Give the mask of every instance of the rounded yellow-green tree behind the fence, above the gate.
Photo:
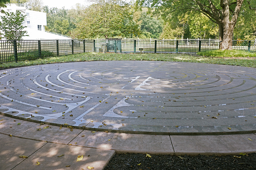
<svg viewBox="0 0 256 170">
<path fill-rule="evenodd" d="M 72 37 L 84 39 L 103 36 L 138 34 L 138 25 L 132 20 L 131 8 L 119 0 L 94 0 L 86 9 L 82 21 L 76 24 Z"/>
</svg>

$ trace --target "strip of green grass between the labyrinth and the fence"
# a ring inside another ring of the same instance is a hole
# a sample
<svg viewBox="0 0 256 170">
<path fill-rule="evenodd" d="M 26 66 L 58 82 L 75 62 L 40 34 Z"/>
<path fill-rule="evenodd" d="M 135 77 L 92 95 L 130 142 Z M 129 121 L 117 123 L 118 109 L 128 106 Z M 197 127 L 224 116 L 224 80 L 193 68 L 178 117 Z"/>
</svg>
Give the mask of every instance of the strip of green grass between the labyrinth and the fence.
<svg viewBox="0 0 256 170">
<path fill-rule="evenodd" d="M 223 51 L 222 51 L 223 52 Z M 209 53 L 209 52 L 206 52 Z M 218 51 L 216 53 L 219 54 Z M 224 52 L 223 52 L 224 53 Z M 226 51 L 225 51 L 226 53 Z M 237 53 L 236 53 L 237 54 Z M 246 57 L 252 54 L 252 57 L 248 59 Z M 198 55 L 207 56 L 204 53 L 198 53 Z M 177 61 L 177 62 L 191 62 L 191 63 L 211 63 L 211 64 L 226 64 L 235 66 L 247 66 L 256 68 L 256 54 L 245 52 L 243 55 L 236 55 L 236 57 L 243 58 L 223 58 L 227 55 L 217 55 L 217 57 L 202 57 L 186 54 L 154 54 L 154 53 L 129 53 L 129 54 L 118 54 L 118 53 L 82 53 L 76 55 L 64 55 L 58 57 L 45 57 L 43 59 L 35 59 L 31 61 L 18 61 L 18 63 L 2 63 L 0 69 L 31 66 L 38 64 L 50 64 L 50 63 L 67 63 L 67 62 L 78 62 L 78 61 L 113 61 L 113 60 L 144 60 L 144 61 Z"/>
</svg>

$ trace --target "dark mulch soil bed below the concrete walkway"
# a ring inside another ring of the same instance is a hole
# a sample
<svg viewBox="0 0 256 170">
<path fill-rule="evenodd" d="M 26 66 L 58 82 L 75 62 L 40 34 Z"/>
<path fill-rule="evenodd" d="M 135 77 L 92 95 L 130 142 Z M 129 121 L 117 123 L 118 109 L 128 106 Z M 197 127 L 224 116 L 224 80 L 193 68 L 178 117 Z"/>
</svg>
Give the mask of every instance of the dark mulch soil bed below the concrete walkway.
<svg viewBox="0 0 256 170">
<path fill-rule="evenodd" d="M 256 153 L 227 156 L 116 154 L 105 170 L 256 170 Z"/>
</svg>

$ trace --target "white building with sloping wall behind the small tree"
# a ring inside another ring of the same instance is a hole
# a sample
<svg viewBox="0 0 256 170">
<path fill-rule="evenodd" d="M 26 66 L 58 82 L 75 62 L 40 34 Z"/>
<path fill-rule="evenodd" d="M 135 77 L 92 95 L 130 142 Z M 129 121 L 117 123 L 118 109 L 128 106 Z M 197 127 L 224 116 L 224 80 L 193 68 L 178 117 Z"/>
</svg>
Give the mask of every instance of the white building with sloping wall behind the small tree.
<svg viewBox="0 0 256 170">
<path fill-rule="evenodd" d="M 18 10 L 21 14 L 26 16 L 23 25 L 27 26 L 24 30 L 28 31 L 27 35 L 29 36 L 24 36 L 22 39 L 71 39 L 65 35 L 45 31 L 45 26 L 47 25 L 45 12 L 27 10 L 25 4 L 6 4 L 6 6 L 7 8 L 1 9 L 9 13 L 15 13 Z M 0 16 L 4 15 L 5 14 L 0 13 Z"/>
</svg>

